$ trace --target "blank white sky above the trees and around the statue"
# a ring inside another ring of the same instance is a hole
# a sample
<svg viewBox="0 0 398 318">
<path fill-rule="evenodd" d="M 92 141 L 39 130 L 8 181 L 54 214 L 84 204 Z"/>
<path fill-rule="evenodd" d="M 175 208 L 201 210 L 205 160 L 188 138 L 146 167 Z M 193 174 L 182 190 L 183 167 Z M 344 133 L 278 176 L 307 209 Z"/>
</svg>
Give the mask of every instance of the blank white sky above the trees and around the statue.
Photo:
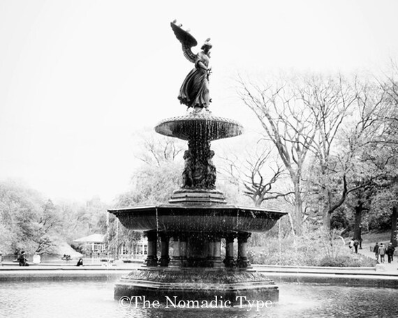
<svg viewBox="0 0 398 318">
<path fill-rule="evenodd" d="M 398 56 L 397 13 L 395 0 L 0 0 L 0 179 L 52 199 L 126 190 L 134 132 L 185 112 L 193 65 L 175 18 L 212 38 L 212 112 L 250 130 L 237 72 L 378 71 Z"/>
</svg>

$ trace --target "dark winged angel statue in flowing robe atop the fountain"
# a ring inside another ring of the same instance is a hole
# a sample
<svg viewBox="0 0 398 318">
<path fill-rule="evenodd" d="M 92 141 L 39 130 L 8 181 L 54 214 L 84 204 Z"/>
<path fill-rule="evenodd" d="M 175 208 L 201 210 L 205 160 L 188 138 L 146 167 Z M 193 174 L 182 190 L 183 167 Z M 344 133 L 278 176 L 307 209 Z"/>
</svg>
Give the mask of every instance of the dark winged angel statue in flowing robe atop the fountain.
<svg viewBox="0 0 398 318">
<path fill-rule="evenodd" d="M 198 54 L 193 54 L 191 47 L 198 45 L 198 42 L 191 36 L 189 30 L 182 29 L 182 24 L 176 22 L 174 20 L 170 23 L 172 31 L 182 44 L 182 52 L 184 52 L 186 59 L 195 63 L 195 68 L 186 75 L 179 89 L 179 102 L 188 106 L 188 108 L 207 109 L 212 101 L 209 97 L 209 75 L 212 73 L 212 69 L 209 68 L 210 49 L 212 48 L 209 43 L 210 39 L 208 38 L 205 41 Z"/>
</svg>

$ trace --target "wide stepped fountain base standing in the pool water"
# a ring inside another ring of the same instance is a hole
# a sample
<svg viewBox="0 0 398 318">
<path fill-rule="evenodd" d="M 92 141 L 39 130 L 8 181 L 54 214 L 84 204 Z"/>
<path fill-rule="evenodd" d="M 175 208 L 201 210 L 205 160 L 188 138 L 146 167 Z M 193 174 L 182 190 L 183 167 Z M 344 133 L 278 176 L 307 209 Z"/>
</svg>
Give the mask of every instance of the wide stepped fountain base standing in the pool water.
<svg viewBox="0 0 398 318">
<path fill-rule="evenodd" d="M 253 270 L 225 268 L 140 268 L 115 286 L 115 299 L 145 296 L 147 301 L 246 301 L 279 300 L 279 289 L 265 275 Z"/>
</svg>

